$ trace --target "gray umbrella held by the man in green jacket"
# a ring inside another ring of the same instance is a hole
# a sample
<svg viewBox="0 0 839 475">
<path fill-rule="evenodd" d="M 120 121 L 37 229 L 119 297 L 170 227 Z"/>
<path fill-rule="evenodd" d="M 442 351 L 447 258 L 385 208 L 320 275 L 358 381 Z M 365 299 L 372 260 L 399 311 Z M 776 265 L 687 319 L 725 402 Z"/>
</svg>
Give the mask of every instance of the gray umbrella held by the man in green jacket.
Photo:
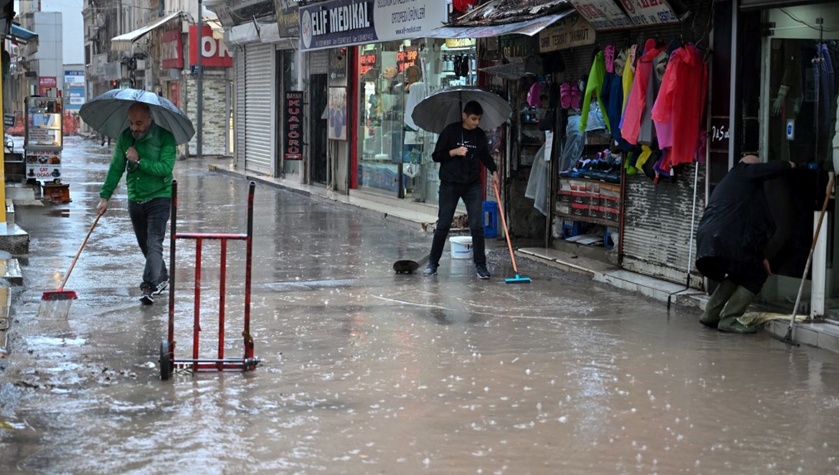
<svg viewBox="0 0 839 475">
<path fill-rule="evenodd" d="M 147 104 L 152 111 L 154 123 L 172 132 L 175 143 L 190 142 L 190 138 L 195 135 L 195 127 L 189 117 L 168 99 L 148 90 L 109 90 L 81 106 L 79 116 L 96 132 L 117 138 L 128 128 L 128 108 L 134 102 Z"/>
</svg>

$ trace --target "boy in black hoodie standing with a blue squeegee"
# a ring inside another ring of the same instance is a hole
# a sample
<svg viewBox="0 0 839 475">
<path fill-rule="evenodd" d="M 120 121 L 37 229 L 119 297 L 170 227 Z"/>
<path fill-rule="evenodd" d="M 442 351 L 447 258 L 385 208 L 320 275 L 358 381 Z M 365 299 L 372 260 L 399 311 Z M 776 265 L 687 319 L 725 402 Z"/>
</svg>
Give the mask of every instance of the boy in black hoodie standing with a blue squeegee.
<svg viewBox="0 0 839 475">
<path fill-rule="evenodd" d="M 496 184 L 498 172 L 489 154 L 487 134 L 478 128 L 482 115 L 483 108 L 477 101 L 466 102 L 462 113 L 463 121 L 453 122 L 443 129 L 431 155 L 435 162 L 440 163 L 440 210 L 424 276 L 437 274 L 457 202 L 463 199 L 469 218 L 469 230 L 472 231 L 472 259 L 475 261 L 475 271 L 482 279 L 490 278 L 483 242 L 481 163 L 492 172 L 492 180 Z"/>
</svg>

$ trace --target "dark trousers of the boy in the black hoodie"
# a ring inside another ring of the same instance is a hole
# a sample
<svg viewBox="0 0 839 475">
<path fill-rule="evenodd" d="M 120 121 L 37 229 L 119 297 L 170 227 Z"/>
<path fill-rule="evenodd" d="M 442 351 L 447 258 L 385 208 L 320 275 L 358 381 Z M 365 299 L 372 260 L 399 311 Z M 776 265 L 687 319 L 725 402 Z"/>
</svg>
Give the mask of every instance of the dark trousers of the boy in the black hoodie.
<svg viewBox="0 0 839 475">
<path fill-rule="evenodd" d="M 431 244 L 431 256 L 428 258 L 430 263 L 440 264 L 440 256 L 443 256 L 443 247 L 449 235 L 451 219 L 455 217 L 457 202 L 463 199 L 463 203 L 466 204 L 466 214 L 469 217 L 469 230 L 472 231 L 472 259 L 476 266 L 487 265 L 487 254 L 483 243 L 482 198 L 481 182 L 440 182 L 440 210 L 437 212 L 437 228 Z"/>
</svg>

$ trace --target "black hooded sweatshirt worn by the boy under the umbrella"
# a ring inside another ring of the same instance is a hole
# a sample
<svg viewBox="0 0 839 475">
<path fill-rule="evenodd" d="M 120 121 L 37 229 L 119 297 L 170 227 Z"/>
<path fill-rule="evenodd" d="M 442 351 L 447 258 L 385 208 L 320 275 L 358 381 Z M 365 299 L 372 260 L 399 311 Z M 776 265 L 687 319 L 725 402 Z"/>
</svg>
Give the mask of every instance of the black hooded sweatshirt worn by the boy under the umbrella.
<svg viewBox="0 0 839 475">
<path fill-rule="evenodd" d="M 466 157 L 450 157 L 449 151 L 466 147 Z M 476 183 L 481 180 L 481 163 L 495 172 L 495 162 L 489 154 L 487 134 L 480 127 L 469 131 L 463 122 L 453 122 L 443 129 L 431 158 L 440 163 L 440 181 L 448 183 Z"/>
</svg>

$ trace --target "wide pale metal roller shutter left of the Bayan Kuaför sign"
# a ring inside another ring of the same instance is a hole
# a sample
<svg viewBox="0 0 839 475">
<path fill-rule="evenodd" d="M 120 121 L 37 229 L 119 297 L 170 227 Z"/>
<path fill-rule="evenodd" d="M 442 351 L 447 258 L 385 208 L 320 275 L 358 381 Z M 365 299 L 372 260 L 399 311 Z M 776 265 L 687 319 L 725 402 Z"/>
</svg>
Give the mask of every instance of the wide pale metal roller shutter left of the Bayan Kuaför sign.
<svg viewBox="0 0 839 475">
<path fill-rule="evenodd" d="M 274 48 L 271 44 L 248 44 L 245 52 L 245 169 L 270 173 Z"/>
</svg>

